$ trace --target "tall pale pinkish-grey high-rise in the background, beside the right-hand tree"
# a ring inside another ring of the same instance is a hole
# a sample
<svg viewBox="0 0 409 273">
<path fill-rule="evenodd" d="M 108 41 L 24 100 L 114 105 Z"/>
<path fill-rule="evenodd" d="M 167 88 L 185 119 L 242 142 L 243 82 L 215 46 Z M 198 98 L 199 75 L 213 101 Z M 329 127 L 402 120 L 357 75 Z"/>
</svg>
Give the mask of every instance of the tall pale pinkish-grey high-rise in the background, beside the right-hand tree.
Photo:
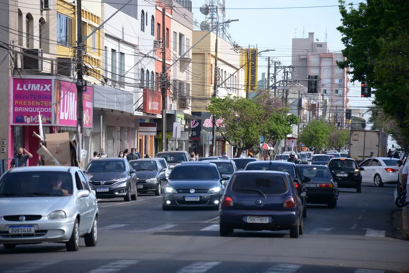
<svg viewBox="0 0 409 273">
<path fill-rule="evenodd" d="M 332 53 L 327 50 L 326 42 L 314 39 L 314 33 L 308 33 L 308 38 L 292 39 L 292 77 L 299 79 L 304 86 L 308 85 L 309 75 L 318 75 L 318 92 L 322 101 L 320 107 L 328 120 L 332 123 L 345 126 L 345 109 L 348 103 L 349 79 L 345 69 L 337 67 L 337 61 L 344 60 L 342 53 Z"/>
</svg>

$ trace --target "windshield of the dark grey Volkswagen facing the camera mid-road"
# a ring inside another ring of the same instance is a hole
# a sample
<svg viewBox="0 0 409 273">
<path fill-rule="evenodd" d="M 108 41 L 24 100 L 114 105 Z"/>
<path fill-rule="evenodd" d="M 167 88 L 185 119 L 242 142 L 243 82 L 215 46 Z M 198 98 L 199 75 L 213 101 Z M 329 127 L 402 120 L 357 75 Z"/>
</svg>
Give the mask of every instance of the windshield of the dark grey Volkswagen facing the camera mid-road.
<svg viewBox="0 0 409 273">
<path fill-rule="evenodd" d="M 215 180 L 220 179 L 214 166 L 183 166 L 177 165 L 169 175 L 169 180 Z"/>
</svg>

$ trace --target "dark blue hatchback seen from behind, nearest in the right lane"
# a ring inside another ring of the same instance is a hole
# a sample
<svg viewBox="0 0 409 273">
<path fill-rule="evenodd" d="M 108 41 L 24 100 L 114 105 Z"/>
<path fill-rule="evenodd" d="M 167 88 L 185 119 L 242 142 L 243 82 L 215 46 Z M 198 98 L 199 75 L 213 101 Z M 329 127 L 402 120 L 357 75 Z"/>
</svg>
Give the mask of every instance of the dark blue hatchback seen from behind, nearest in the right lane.
<svg viewBox="0 0 409 273">
<path fill-rule="evenodd" d="M 302 215 L 303 202 L 288 173 L 237 172 L 221 199 L 220 236 L 228 236 L 236 228 L 289 230 L 291 238 L 298 238 L 304 233 Z"/>
</svg>

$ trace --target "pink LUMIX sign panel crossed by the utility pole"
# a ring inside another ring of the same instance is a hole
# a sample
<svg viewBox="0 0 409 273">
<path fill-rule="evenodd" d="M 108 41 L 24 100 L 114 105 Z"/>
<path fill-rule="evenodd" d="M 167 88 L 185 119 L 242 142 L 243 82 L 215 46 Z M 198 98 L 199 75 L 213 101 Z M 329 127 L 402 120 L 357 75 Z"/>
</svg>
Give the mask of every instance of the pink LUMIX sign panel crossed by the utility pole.
<svg viewBox="0 0 409 273">
<path fill-rule="evenodd" d="M 61 126 L 77 125 L 77 89 L 75 83 L 55 80 L 54 97 L 56 101 L 56 124 Z M 83 93 L 84 127 L 92 128 L 93 88 L 88 86 Z"/>
</svg>

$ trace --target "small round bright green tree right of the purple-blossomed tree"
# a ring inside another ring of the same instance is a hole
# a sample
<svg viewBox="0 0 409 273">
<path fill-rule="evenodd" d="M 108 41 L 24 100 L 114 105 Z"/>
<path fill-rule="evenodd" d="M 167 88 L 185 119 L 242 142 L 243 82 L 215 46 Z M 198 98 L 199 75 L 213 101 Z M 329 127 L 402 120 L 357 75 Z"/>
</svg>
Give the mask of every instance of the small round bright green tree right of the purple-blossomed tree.
<svg viewBox="0 0 409 273">
<path fill-rule="evenodd" d="M 311 151 L 327 146 L 331 130 L 324 121 L 314 120 L 301 129 L 299 141 Z"/>
</svg>

